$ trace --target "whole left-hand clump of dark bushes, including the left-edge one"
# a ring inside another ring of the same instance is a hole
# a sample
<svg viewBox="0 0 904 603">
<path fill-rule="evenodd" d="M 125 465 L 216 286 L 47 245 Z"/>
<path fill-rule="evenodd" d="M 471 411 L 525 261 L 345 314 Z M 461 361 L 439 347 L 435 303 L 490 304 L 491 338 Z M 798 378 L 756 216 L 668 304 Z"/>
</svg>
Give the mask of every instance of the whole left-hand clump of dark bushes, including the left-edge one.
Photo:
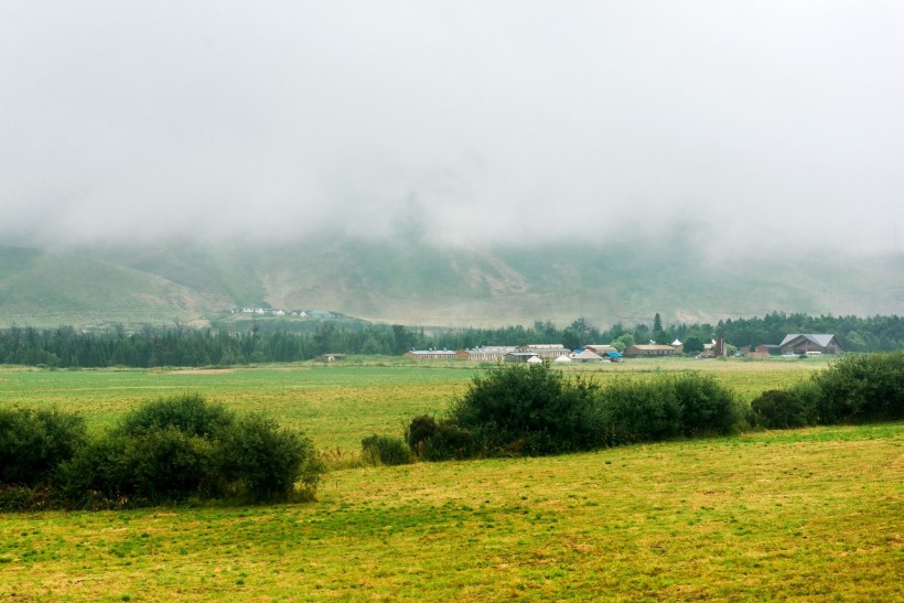
<svg viewBox="0 0 904 603">
<path fill-rule="evenodd" d="M 313 498 L 313 443 L 198 395 L 148 402 L 106 432 L 56 410 L 0 409 L 0 508 L 121 508 Z"/>
</svg>

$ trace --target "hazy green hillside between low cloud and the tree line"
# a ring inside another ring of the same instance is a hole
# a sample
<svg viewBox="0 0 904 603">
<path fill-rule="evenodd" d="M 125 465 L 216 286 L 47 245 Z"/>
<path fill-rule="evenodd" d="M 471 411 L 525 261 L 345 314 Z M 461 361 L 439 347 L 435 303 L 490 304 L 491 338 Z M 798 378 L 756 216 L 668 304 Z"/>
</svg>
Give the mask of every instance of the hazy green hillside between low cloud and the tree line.
<svg viewBox="0 0 904 603">
<path fill-rule="evenodd" d="M 900 314 L 904 256 L 713 258 L 681 240 L 438 248 L 422 243 L 0 247 L 0 322 L 206 324 L 233 308 L 421 325 L 710 321 L 774 310 Z M 3 325 L 0 325 L 3 326 Z"/>
</svg>

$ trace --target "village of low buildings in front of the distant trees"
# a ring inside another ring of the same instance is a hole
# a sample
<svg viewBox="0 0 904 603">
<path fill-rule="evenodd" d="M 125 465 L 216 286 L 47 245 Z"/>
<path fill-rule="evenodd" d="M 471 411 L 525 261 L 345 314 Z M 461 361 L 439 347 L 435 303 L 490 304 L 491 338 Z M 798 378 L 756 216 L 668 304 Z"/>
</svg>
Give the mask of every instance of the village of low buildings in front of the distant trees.
<svg viewBox="0 0 904 603">
<path fill-rule="evenodd" d="M 822 354 L 841 354 L 842 348 L 832 334 L 788 334 L 779 344 L 763 344 L 756 347 L 735 348 L 724 338 L 715 337 L 703 345 L 703 351 L 693 356 L 697 358 L 720 358 L 739 356 L 765 359 L 773 356 L 818 356 Z M 669 344 L 635 344 L 620 351 L 612 344 L 588 344 L 580 349 L 568 349 L 561 344 L 534 345 L 496 345 L 480 346 L 471 349 L 411 349 L 405 357 L 420 360 L 476 360 L 493 363 L 540 364 L 551 362 L 567 363 L 620 363 L 625 358 L 660 358 L 664 356 L 685 355 L 684 344 L 675 340 Z"/>
</svg>

